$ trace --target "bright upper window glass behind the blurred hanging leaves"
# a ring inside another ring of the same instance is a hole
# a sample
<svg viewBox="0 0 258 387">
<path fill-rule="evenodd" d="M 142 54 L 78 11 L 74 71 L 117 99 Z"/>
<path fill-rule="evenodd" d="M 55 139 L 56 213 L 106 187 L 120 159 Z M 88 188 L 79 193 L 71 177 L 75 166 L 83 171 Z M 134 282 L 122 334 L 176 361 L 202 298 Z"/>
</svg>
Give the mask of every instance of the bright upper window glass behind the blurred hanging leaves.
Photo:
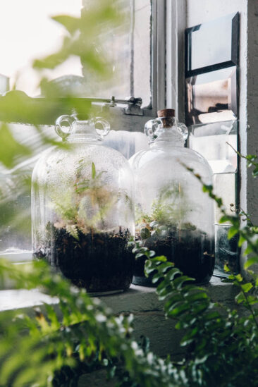
<svg viewBox="0 0 258 387">
<path fill-rule="evenodd" d="M 31 97 L 42 93 L 39 73 L 32 69 L 32 62 L 54 53 L 68 34 L 51 16 L 80 17 L 90 3 L 91 0 L 13 0 L 0 5 L 2 92 L 4 87 L 12 89 L 16 84 L 16 89 Z M 142 97 L 142 106 L 147 106 L 151 99 L 151 1 L 119 0 L 117 6 L 121 8 L 123 23 L 112 30 L 103 29 L 98 40 L 102 47 L 97 43 L 95 47 L 112 62 L 110 80 L 99 82 L 78 56 L 70 56 L 54 70 L 44 70 L 44 75 L 58 82 L 77 82 L 73 91 L 80 96 Z"/>
</svg>

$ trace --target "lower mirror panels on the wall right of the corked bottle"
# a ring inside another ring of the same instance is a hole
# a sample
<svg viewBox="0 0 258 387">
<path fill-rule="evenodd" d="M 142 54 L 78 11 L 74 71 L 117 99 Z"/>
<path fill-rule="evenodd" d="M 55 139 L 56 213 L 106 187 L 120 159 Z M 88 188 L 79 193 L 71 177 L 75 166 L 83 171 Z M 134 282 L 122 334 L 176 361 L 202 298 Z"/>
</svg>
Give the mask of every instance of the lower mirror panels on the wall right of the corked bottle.
<svg viewBox="0 0 258 387">
<path fill-rule="evenodd" d="M 236 198 L 236 178 L 238 156 L 237 148 L 238 121 L 226 121 L 190 127 L 189 146 L 202 154 L 214 173 L 214 192 L 223 199 L 228 214 L 233 214 Z M 233 204 L 233 205 L 232 205 Z M 223 273 L 223 266 L 231 264 L 238 271 L 238 250 L 235 240 L 228 241 L 228 225 L 219 225 L 221 211 L 214 204 L 216 227 L 215 264 L 217 271 Z"/>
</svg>

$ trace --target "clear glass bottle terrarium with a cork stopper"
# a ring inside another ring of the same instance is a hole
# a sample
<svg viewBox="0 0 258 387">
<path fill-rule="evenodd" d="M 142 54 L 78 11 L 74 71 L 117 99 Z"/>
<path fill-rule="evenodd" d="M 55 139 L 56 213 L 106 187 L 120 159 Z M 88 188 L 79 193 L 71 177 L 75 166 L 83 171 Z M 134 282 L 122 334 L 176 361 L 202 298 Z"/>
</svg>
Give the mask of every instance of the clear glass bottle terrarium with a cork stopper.
<svg viewBox="0 0 258 387">
<path fill-rule="evenodd" d="M 184 147 L 188 129 L 173 109 L 159 111 L 145 133 L 149 149 L 129 161 L 135 175 L 135 240 L 166 256 L 197 283 L 207 283 L 214 271 L 214 204 L 187 167 L 205 184 L 211 184 L 211 168 Z M 136 259 L 133 283 L 151 285 L 144 265 L 144 257 Z"/>
</svg>

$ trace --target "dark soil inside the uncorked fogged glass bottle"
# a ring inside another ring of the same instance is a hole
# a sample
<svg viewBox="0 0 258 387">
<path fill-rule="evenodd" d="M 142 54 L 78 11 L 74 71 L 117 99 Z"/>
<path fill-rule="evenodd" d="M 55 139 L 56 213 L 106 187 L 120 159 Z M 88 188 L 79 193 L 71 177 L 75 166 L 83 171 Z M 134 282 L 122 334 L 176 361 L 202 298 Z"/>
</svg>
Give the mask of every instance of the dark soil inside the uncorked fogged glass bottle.
<svg viewBox="0 0 258 387">
<path fill-rule="evenodd" d="M 40 245 L 34 257 L 47 259 L 51 266 L 89 293 L 105 293 L 129 288 L 133 280 L 135 256 L 128 246 L 130 232 L 120 228 L 113 232 L 84 234 L 78 238 L 48 224 L 49 240 Z"/>
</svg>

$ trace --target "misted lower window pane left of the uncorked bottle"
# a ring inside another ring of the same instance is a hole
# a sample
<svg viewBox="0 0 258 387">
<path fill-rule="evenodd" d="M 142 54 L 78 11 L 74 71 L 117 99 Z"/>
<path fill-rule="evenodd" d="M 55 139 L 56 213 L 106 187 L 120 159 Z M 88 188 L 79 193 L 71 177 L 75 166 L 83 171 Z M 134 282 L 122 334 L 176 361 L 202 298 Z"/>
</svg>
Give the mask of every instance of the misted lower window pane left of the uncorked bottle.
<svg viewBox="0 0 258 387">
<path fill-rule="evenodd" d="M 46 145 L 31 125 L 9 124 L 8 128 L 13 138 L 31 152 L 17 158 L 11 169 L 0 165 L 0 255 L 17 262 L 31 259 L 30 180 Z M 54 138 L 49 127 L 45 127 L 45 135 Z"/>
</svg>

